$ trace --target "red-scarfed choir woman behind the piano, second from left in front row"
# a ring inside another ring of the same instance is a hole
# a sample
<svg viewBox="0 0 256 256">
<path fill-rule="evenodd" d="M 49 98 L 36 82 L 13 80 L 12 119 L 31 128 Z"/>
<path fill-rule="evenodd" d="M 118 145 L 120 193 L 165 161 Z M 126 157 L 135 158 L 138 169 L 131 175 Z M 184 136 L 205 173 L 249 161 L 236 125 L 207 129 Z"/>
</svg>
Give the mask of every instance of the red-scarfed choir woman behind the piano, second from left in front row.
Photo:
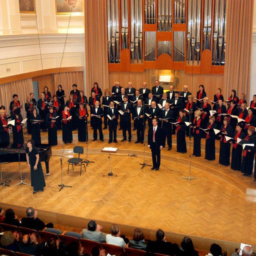
<svg viewBox="0 0 256 256">
<path fill-rule="evenodd" d="M 14 114 L 15 116 L 12 117 L 12 120 L 15 120 L 15 124 L 14 126 L 12 126 L 12 133 L 13 133 L 12 147 L 19 149 L 24 144 L 24 137 L 23 137 L 23 130 L 22 130 L 23 124 L 21 123 L 23 118 L 17 109 L 14 111 Z"/>
</svg>

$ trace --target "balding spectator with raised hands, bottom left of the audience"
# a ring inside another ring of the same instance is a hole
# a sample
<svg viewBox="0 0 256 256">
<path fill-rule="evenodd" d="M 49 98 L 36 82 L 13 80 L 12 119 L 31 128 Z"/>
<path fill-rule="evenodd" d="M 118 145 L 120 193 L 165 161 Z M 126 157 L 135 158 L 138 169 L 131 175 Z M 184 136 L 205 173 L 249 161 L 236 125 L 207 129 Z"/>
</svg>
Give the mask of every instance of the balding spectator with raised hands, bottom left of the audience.
<svg viewBox="0 0 256 256">
<path fill-rule="evenodd" d="M 40 256 L 40 247 L 36 239 L 36 234 L 23 235 L 21 243 L 18 244 L 18 251 L 20 253 L 32 254 Z"/>
</svg>

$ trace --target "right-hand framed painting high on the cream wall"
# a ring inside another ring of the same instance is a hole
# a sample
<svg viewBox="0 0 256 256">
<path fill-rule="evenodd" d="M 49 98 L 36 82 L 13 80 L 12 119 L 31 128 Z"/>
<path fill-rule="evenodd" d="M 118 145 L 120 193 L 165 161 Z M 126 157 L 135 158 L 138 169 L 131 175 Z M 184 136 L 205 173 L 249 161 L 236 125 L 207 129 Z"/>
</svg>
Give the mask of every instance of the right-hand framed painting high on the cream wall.
<svg viewBox="0 0 256 256">
<path fill-rule="evenodd" d="M 83 14 L 84 0 L 55 0 L 56 14 Z"/>
</svg>

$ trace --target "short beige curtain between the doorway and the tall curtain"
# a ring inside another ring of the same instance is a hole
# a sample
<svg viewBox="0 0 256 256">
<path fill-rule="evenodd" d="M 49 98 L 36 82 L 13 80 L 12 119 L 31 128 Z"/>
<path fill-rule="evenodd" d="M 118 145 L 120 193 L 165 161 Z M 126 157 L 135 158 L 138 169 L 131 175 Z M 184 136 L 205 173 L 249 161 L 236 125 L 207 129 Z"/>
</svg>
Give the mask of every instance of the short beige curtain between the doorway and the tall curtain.
<svg viewBox="0 0 256 256">
<path fill-rule="evenodd" d="M 84 79 L 83 72 L 64 72 L 64 73 L 54 73 L 54 85 L 62 85 L 62 89 L 65 91 L 66 99 L 69 99 L 69 93 L 72 90 L 72 85 L 76 83 L 78 85 L 78 90 L 84 90 Z M 86 93 L 86 92 L 85 92 Z"/>
</svg>

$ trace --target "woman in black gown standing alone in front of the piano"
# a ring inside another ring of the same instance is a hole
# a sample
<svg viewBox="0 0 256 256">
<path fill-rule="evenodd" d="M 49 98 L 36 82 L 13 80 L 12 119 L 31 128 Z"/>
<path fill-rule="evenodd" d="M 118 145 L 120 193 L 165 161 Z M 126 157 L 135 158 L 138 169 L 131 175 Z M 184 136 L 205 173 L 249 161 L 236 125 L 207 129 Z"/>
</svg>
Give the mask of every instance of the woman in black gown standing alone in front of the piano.
<svg viewBox="0 0 256 256">
<path fill-rule="evenodd" d="M 45 178 L 43 176 L 38 149 L 35 147 L 33 140 L 27 142 L 26 158 L 30 168 L 31 187 L 34 188 L 33 194 L 36 194 L 38 191 L 43 191 L 43 188 L 45 187 Z"/>
</svg>

